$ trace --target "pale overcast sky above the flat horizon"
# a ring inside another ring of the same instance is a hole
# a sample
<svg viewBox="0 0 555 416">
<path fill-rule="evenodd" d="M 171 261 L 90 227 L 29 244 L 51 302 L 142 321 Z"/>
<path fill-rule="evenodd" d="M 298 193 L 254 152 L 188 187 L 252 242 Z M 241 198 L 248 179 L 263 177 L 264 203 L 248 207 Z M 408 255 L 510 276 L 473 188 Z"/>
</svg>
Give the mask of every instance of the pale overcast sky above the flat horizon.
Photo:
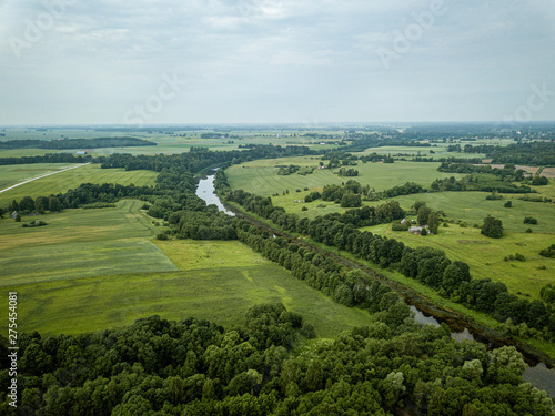
<svg viewBox="0 0 555 416">
<path fill-rule="evenodd" d="M 539 120 L 553 0 L 0 0 L 0 125 Z"/>
</svg>

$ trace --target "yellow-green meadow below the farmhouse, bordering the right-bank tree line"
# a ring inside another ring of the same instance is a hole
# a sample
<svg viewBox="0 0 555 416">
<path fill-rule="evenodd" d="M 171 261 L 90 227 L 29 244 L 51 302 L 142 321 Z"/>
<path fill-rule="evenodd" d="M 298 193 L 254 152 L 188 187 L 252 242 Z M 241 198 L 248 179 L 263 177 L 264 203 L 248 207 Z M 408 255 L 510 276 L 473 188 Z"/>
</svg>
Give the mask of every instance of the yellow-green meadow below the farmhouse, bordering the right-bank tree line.
<svg viewBox="0 0 555 416">
<path fill-rule="evenodd" d="M 392 231 L 391 224 L 363 230 L 395 239 L 411 247 L 442 250 L 451 261 L 467 263 L 474 278 L 503 282 L 511 293 L 531 300 L 541 298 L 539 290 L 548 283 L 555 283 L 555 260 L 538 254 L 542 248 L 553 244 L 553 234 L 506 233 L 502 239 L 488 239 L 478 229 L 448 225 L 447 229 L 440 226 L 437 235 L 426 236 Z M 515 253 L 523 254 L 526 261 L 504 261 Z M 541 270 L 542 266 L 546 270 Z"/>
</svg>

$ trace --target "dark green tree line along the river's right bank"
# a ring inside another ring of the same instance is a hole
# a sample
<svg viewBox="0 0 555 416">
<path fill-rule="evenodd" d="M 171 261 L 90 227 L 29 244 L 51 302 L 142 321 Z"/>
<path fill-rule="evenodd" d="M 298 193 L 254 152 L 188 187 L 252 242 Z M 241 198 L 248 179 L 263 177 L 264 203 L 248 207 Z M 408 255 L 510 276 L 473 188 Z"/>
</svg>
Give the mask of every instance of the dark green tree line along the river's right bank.
<svg viewBox="0 0 555 416">
<path fill-rule="evenodd" d="M 220 191 L 226 189 L 223 176 L 223 172 L 218 172 Z M 466 263 L 451 262 L 443 251 L 432 247 L 412 248 L 394 239 L 356 229 L 402 219 L 404 212 L 395 201 L 377 207 L 364 207 L 309 220 L 285 213 L 282 207 L 274 206 L 270 197 L 252 195 L 242 190 L 228 191 L 224 195 L 226 201 L 235 202 L 246 211 L 271 220 L 285 231 L 307 235 L 316 243 L 344 250 L 382 268 L 396 270 L 436 290 L 440 295 L 468 308 L 487 313 L 502 323 L 511 318 L 511 323 L 515 325 L 526 324 L 533 329 L 531 333 L 534 337 L 555 339 L 555 308 L 552 305 L 509 294 L 504 283 L 492 282 L 490 278 L 473 280 Z M 359 214 L 363 212 L 364 217 L 361 221 Z"/>
</svg>

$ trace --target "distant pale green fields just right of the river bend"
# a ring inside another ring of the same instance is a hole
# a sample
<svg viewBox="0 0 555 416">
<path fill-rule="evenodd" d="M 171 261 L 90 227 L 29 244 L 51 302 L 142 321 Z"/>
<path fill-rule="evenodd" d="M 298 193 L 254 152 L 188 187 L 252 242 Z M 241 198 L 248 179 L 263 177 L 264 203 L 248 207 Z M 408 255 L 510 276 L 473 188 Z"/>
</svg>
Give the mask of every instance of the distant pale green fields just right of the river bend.
<svg viewBox="0 0 555 416">
<path fill-rule="evenodd" d="M 395 163 L 362 163 L 354 168 L 359 171 L 359 176 L 339 176 L 330 170 L 315 170 L 309 175 L 279 175 L 276 165 L 295 164 L 299 166 L 317 166 L 320 158 L 285 158 L 268 159 L 233 165 L 225 170 L 225 175 L 232 189 L 242 189 L 261 196 L 270 196 L 274 193 L 282 194 L 289 190 L 290 195 L 296 190 L 303 191 L 309 187 L 311 191 L 321 190 L 324 185 L 341 184 L 353 179 L 362 185 L 370 185 L 376 191 L 383 191 L 406 182 L 415 182 L 422 186 L 430 186 L 438 177 L 463 177 L 464 174 L 437 172 L 437 162 L 395 162 Z M 333 170 L 337 171 L 337 170 Z M 296 197 L 294 197 L 296 199 Z M 303 196 L 304 199 L 304 196 Z"/>
</svg>

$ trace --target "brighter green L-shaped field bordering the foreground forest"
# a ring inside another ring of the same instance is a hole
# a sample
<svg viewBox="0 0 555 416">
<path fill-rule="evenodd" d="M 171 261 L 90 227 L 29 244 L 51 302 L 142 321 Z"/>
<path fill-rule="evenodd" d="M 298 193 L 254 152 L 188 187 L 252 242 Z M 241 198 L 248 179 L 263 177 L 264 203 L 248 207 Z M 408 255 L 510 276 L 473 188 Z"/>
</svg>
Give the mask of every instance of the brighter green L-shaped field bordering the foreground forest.
<svg viewBox="0 0 555 416">
<path fill-rule="evenodd" d="M 179 272 L 131 273 L 10 286 L 19 293 L 21 331 L 75 334 L 163 318 L 205 318 L 241 325 L 249 307 L 282 302 L 332 337 L 365 325 L 365 311 L 349 308 L 309 287 L 239 242 L 158 242 Z M 141 270 L 141 267 L 135 267 Z"/>
</svg>

